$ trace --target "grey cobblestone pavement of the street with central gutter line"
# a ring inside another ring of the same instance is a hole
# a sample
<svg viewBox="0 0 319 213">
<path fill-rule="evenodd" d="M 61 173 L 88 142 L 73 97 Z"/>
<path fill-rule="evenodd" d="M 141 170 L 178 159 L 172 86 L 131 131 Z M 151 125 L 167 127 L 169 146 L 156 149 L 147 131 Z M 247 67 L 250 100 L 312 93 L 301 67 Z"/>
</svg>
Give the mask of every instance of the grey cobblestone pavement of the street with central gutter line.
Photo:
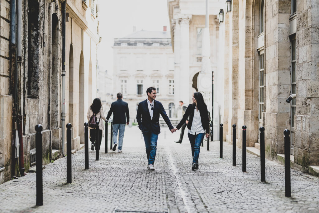
<svg viewBox="0 0 319 213">
<path fill-rule="evenodd" d="M 284 166 L 266 160 L 266 181 L 260 180 L 260 158 L 247 153 L 241 171 L 241 150 L 232 166 L 232 146 L 206 142 L 199 170 L 191 171 L 185 133 L 182 144 L 163 128 L 155 171 L 147 170 L 144 141 L 137 127 L 126 128 L 123 153 L 104 153 L 95 161 L 84 150 L 72 155 L 72 183 L 66 184 L 66 158 L 43 170 L 43 206 L 35 206 L 35 173 L 0 185 L 0 212 L 318 212 L 319 178 L 291 170 L 292 198 L 285 197 Z M 103 138 L 104 139 L 104 138 Z M 103 143 L 102 143 L 103 144 Z"/>
</svg>

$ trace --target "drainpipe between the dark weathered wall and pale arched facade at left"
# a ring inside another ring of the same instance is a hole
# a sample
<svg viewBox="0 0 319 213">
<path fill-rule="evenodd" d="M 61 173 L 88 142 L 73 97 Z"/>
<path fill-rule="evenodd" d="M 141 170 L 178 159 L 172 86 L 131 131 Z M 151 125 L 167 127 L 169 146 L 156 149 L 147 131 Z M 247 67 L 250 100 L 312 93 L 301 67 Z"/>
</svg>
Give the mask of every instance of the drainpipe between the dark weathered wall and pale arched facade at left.
<svg viewBox="0 0 319 213">
<path fill-rule="evenodd" d="M 62 4 L 62 110 L 61 110 L 61 123 L 62 123 L 62 154 L 64 155 L 64 129 L 65 129 L 65 12 L 66 0 Z"/>
</svg>

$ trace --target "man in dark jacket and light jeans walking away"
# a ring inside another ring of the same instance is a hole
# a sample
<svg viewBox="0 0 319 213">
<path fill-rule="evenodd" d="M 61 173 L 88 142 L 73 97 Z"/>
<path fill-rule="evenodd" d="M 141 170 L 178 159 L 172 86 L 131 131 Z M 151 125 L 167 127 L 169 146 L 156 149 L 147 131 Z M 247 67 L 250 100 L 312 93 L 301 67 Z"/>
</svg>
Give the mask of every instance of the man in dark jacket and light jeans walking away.
<svg viewBox="0 0 319 213">
<path fill-rule="evenodd" d="M 123 138 L 124 138 L 124 131 L 125 131 L 125 114 L 126 114 L 126 124 L 130 122 L 130 113 L 129 113 L 129 105 L 127 102 L 123 101 L 123 95 L 121 92 L 117 93 L 116 95 L 117 101 L 114 101 L 111 104 L 111 108 L 108 111 L 108 116 L 106 120 L 111 117 L 113 113 L 113 151 L 116 150 L 117 146 L 117 134 L 119 132 L 119 140 L 118 140 L 118 153 L 122 152 L 123 146 Z"/>
</svg>

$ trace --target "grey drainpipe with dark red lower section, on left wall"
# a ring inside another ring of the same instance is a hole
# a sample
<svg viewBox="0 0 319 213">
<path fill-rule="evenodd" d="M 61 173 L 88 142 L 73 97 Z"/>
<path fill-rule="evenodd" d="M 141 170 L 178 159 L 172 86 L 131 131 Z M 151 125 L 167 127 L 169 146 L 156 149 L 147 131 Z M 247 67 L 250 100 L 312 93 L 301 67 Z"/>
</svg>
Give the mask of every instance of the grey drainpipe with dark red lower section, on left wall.
<svg viewBox="0 0 319 213">
<path fill-rule="evenodd" d="M 21 56 L 22 56 L 22 51 L 21 51 L 21 46 L 22 46 L 22 42 L 21 42 L 21 28 L 22 26 L 22 0 L 17 0 L 17 61 L 18 61 L 18 64 L 17 64 L 17 83 L 18 83 L 18 73 L 20 73 L 20 70 L 21 70 Z M 20 78 L 20 82 L 21 82 L 21 78 Z M 20 85 L 20 84 L 19 84 Z M 20 101 L 18 101 L 19 99 L 19 95 L 18 95 L 18 91 L 19 89 L 16 88 L 16 97 L 17 97 L 17 113 L 19 114 L 19 119 L 18 119 L 18 126 L 17 126 L 17 129 L 18 129 L 18 135 L 19 135 L 19 143 L 20 143 L 20 146 L 19 146 L 19 170 L 20 170 L 20 175 L 21 176 L 24 176 L 25 175 L 25 168 L 24 168 L 24 154 L 23 154 L 23 140 L 22 140 L 22 122 L 23 122 L 23 115 L 20 115 L 19 113 L 19 109 L 18 109 L 18 103 Z M 20 102 L 19 106 L 21 107 L 21 114 L 23 112 L 22 110 L 22 104 Z"/>
</svg>

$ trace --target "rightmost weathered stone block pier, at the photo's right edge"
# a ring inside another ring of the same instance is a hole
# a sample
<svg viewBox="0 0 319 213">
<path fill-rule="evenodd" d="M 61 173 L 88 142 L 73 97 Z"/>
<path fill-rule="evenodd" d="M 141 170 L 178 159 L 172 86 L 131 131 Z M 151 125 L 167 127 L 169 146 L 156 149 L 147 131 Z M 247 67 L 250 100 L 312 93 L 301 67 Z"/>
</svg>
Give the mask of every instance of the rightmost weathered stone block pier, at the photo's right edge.
<svg viewBox="0 0 319 213">
<path fill-rule="evenodd" d="M 294 162 L 319 165 L 319 4 L 297 1 Z"/>
</svg>

